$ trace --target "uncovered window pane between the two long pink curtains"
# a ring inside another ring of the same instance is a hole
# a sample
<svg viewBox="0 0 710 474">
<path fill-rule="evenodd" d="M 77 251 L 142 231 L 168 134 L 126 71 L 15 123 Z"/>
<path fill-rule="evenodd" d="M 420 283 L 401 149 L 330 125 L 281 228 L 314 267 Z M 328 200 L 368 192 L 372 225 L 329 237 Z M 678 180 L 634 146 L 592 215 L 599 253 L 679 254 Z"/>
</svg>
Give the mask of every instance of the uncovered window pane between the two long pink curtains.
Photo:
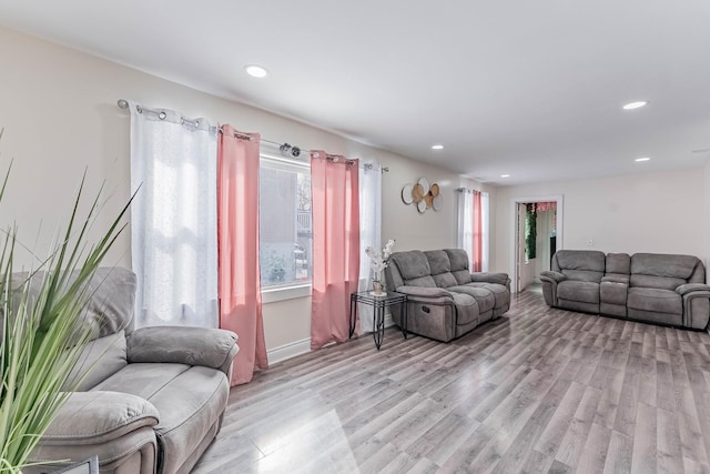
<svg viewBox="0 0 710 474">
<path fill-rule="evenodd" d="M 310 164 L 262 154 L 258 205 L 262 289 L 310 283 L 313 275 Z"/>
</svg>

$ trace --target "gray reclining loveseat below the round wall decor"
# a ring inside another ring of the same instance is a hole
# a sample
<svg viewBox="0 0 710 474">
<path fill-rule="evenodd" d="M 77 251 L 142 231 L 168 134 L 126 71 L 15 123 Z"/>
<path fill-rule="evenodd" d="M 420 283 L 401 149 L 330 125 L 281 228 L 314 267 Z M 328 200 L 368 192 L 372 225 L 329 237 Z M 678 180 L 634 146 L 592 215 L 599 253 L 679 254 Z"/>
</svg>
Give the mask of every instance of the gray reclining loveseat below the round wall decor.
<svg viewBox="0 0 710 474">
<path fill-rule="evenodd" d="M 407 295 L 407 331 L 450 341 L 510 307 L 505 273 L 470 273 L 460 249 L 395 252 L 385 269 L 387 288 Z M 395 323 L 400 312 L 393 311 Z"/>
</svg>

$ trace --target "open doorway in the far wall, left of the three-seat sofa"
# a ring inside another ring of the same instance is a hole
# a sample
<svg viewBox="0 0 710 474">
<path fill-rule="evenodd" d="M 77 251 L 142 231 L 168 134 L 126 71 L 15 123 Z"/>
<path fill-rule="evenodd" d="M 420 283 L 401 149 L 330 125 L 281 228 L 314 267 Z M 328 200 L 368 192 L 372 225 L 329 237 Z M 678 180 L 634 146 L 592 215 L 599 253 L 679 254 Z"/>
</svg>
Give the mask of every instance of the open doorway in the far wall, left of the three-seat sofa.
<svg viewBox="0 0 710 474">
<path fill-rule="evenodd" d="M 562 196 L 516 198 L 513 218 L 510 276 L 518 293 L 549 270 L 552 254 L 562 249 Z"/>
</svg>

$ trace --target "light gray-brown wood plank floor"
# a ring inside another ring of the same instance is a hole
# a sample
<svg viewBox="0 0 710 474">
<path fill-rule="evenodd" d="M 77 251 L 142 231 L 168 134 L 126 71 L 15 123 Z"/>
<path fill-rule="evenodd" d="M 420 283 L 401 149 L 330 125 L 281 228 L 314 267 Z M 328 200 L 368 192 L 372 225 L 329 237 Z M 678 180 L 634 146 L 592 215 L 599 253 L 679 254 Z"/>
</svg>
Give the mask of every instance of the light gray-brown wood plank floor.
<svg viewBox="0 0 710 474">
<path fill-rule="evenodd" d="M 197 473 L 710 472 L 710 335 L 548 309 L 387 330 L 232 390 Z"/>
</svg>

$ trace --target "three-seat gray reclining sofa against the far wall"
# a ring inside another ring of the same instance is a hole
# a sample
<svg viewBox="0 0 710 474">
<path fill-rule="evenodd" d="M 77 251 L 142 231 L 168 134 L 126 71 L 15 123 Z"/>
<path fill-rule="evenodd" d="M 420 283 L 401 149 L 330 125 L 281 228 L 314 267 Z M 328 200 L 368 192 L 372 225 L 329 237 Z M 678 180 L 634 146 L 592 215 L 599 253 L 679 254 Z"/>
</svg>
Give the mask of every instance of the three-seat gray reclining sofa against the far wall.
<svg viewBox="0 0 710 474">
<path fill-rule="evenodd" d="M 691 329 L 710 319 L 706 269 L 691 255 L 560 250 L 540 280 L 555 307 Z"/>
</svg>

